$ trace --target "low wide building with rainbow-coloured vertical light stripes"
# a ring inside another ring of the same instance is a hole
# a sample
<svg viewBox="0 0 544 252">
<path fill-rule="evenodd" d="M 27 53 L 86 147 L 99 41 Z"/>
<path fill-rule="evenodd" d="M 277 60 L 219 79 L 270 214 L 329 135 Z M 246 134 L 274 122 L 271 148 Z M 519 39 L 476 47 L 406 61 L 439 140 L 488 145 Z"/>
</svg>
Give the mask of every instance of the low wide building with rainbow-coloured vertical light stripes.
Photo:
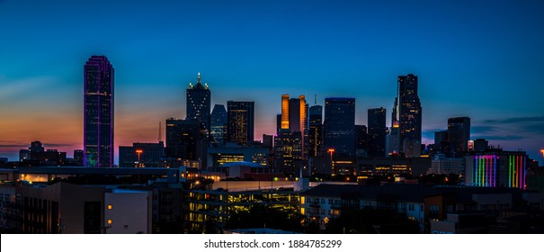
<svg viewBox="0 0 544 252">
<path fill-rule="evenodd" d="M 525 189 L 527 155 L 524 151 L 470 152 L 465 156 L 465 166 L 467 185 Z"/>
</svg>

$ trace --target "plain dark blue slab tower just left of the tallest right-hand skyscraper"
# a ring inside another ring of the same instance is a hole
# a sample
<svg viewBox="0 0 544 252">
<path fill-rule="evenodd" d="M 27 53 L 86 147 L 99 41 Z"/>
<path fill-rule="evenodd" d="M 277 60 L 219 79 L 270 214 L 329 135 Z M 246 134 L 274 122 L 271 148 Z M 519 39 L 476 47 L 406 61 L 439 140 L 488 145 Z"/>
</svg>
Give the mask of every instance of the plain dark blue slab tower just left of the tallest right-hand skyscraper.
<svg viewBox="0 0 544 252">
<path fill-rule="evenodd" d="M 369 142 L 367 153 L 370 157 L 386 156 L 386 109 L 374 108 L 369 113 Z"/>
</svg>

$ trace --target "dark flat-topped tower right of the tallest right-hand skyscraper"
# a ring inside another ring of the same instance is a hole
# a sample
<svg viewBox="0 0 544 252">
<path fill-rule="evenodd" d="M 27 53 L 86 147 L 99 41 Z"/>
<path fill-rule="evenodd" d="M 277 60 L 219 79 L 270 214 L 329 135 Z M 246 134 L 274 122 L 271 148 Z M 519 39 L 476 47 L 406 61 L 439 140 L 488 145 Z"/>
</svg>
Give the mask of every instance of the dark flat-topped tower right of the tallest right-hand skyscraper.
<svg viewBox="0 0 544 252">
<path fill-rule="evenodd" d="M 447 157 L 463 157 L 468 151 L 470 139 L 470 118 L 453 117 L 448 119 L 448 152 Z"/>
</svg>

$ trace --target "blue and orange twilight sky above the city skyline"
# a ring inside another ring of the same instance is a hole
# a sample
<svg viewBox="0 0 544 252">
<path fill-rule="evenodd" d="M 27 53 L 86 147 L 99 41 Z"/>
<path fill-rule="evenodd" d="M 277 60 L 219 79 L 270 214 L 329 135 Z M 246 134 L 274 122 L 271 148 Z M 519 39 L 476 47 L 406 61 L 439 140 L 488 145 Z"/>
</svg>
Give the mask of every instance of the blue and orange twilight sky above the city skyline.
<svg viewBox="0 0 544 252">
<path fill-rule="evenodd" d="M 35 139 L 83 148 L 83 65 L 98 54 L 115 67 L 116 145 L 183 118 L 198 72 L 212 105 L 255 101 L 257 139 L 281 94 L 355 97 L 366 124 L 413 73 L 424 142 L 469 116 L 472 139 L 542 160 L 543 1 L 111 2 L 0 0 L 0 157 Z"/>
</svg>

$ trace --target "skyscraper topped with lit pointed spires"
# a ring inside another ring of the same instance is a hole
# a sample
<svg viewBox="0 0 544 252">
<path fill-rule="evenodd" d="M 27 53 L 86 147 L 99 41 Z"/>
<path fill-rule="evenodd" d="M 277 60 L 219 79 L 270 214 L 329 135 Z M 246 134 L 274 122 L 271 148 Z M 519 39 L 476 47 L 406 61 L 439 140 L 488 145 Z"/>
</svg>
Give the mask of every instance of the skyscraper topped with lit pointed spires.
<svg viewBox="0 0 544 252">
<path fill-rule="evenodd" d="M 202 85 L 201 73 L 197 77 L 196 85 L 189 84 L 187 88 L 187 119 L 201 121 L 204 128 L 210 132 L 210 88 Z"/>
</svg>

